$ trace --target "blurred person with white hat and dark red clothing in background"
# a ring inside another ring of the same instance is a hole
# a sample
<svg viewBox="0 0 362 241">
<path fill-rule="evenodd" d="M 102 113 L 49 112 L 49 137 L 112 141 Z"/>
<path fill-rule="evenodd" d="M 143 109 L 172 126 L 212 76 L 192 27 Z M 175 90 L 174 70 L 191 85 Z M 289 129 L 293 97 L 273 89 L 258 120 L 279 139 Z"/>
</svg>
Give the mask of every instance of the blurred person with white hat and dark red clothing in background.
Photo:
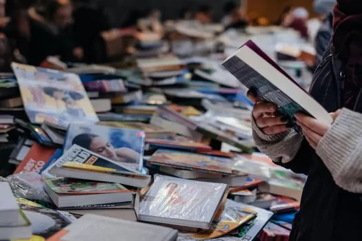
<svg viewBox="0 0 362 241">
<path fill-rule="evenodd" d="M 301 34 L 301 37 L 305 40 L 309 39 L 307 21 L 309 18 L 309 12 L 305 8 L 295 8 L 291 12 L 285 15 L 281 26 L 284 28 L 292 28 Z"/>
</svg>

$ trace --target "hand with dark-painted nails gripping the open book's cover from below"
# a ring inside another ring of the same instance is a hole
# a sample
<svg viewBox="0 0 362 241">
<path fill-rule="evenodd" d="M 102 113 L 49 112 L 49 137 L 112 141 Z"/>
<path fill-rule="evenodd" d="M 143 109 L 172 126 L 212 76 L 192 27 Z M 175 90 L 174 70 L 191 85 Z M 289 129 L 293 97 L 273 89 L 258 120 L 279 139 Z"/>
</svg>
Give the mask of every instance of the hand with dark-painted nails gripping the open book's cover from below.
<svg viewBox="0 0 362 241">
<path fill-rule="evenodd" d="M 254 117 L 255 123 L 264 134 L 279 134 L 290 128 L 288 118 L 275 114 L 276 105 L 261 101 L 261 99 L 254 94 L 253 89 L 248 91 L 248 98 L 254 103 L 252 116 Z"/>
</svg>

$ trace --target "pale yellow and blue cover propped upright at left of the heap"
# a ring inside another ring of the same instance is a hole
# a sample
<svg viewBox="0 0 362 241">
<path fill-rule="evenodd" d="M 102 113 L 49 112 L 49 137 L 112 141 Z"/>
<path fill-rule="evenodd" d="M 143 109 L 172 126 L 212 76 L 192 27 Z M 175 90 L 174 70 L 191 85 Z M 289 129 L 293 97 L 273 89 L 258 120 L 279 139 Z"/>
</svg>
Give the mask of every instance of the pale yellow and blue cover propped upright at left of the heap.
<svg viewBox="0 0 362 241">
<path fill-rule="evenodd" d="M 76 74 L 12 63 L 23 105 L 31 123 L 49 121 L 67 126 L 72 122 L 99 121 Z"/>
</svg>

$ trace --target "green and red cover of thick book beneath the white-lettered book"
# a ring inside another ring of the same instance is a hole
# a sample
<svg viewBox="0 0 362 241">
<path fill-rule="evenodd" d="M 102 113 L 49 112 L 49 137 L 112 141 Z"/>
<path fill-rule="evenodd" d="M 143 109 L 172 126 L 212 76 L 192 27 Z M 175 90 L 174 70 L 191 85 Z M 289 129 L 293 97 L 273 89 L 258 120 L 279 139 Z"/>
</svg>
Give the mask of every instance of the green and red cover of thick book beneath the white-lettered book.
<svg viewBox="0 0 362 241">
<path fill-rule="evenodd" d="M 54 192 L 60 194 L 101 194 L 130 192 L 119 183 L 85 182 L 71 178 L 50 178 L 45 180 Z"/>
</svg>

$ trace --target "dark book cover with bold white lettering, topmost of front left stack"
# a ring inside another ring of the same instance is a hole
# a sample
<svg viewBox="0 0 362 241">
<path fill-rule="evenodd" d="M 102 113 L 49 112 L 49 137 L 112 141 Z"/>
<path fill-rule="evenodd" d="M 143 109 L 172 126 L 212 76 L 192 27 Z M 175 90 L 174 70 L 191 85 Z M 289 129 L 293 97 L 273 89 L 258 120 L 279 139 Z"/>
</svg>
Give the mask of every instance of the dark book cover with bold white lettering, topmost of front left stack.
<svg viewBox="0 0 362 241">
<path fill-rule="evenodd" d="M 103 156 L 74 144 L 70 147 L 70 149 L 65 151 L 58 160 L 45 169 L 42 176 L 45 176 L 46 178 L 54 178 L 57 176 L 57 170 L 68 162 L 86 164 L 90 167 L 92 167 L 92 165 L 95 167 L 105 167 L 130 174 L 135 172 L 134 170 L 122 165 L 122 163 L 104 158 Z"/>
</svg>

